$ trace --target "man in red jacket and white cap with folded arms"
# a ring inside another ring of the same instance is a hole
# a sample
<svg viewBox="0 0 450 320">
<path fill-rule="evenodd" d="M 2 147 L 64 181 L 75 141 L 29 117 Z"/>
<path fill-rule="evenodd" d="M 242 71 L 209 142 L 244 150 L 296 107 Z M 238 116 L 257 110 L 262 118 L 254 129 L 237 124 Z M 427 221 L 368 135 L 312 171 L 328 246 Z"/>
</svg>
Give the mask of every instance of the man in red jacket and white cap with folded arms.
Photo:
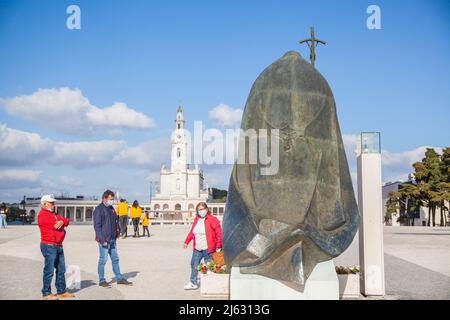
<svg viewBox="0 0 450 320">
<path fill-rule="evenodd" d="M 56 199 L 53 195 L 44 195 L 41 198 L 41 211 L 38 216 L 39 230 L 41 231 L 41 252 L 45 258 L 42 297 L 44 300 L 58 300 L 59 298 L 73 298 L 73 293 L 66 288 L 66 264 L 64 261 L 63 241 L 66 236 L 64 229 L 69 225 L 69 219 L 55 214 Z M 56 269 L 56 290 L 53 295 L 51 283 Z"/>
</svg>

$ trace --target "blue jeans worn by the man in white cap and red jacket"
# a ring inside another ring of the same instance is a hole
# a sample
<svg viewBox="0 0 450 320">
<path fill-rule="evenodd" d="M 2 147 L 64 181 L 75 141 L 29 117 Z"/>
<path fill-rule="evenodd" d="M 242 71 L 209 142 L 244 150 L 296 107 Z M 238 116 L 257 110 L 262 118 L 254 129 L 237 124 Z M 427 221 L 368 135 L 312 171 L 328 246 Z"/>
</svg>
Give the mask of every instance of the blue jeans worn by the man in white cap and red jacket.
<svg viewBox="0 0 450 320">
<path fill-rule="evenodd" d="M 66 292 L 66 263 L 64 261 L 64 249 L 62 246 L 41 244 L 41 252 L 45 258 L 42 295 L 52 294 L 51 284 L 53 273 L 56 269 L 56 293 Z"/>
</svg>

